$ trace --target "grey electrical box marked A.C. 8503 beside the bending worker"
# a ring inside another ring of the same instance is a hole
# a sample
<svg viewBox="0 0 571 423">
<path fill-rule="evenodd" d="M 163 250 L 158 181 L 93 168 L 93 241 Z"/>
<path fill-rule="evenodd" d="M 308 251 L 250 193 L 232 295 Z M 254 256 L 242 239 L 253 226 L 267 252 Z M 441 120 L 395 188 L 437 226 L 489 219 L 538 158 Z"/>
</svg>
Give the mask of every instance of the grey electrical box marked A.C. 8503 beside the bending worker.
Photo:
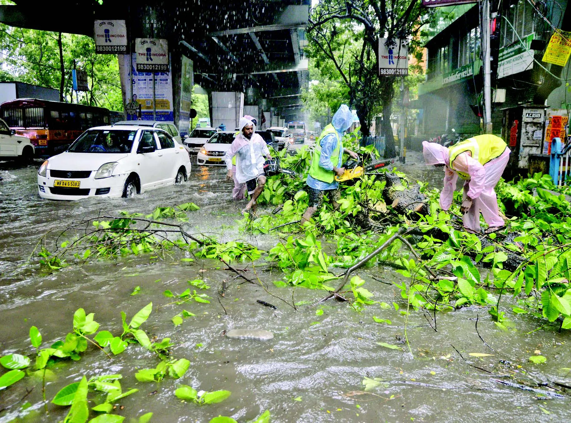
<svg viewBox="0 0 571 423">
<path fill-rule="evenodd" d="M 534 159 L 543 155 L 546 108 L 525 105 L 504 110 L 502 138 L 512 150 L 508 168 L 513 174 L 528 173 Z"/>
</svg>

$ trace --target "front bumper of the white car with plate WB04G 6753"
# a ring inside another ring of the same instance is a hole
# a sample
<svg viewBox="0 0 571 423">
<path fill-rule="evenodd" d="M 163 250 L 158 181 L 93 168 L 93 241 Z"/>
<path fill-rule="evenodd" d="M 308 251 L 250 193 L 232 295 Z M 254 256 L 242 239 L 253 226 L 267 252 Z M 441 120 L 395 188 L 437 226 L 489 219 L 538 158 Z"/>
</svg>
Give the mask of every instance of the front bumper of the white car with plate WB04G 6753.
<svg viewBox="0 0 571 423">
<path fill-rule="evenodd" d="M 73 201 L 89 197 L 121 197 L 127 174 L 113 175 L 108 178 L 94 179 L 92 172 L 89 178 L 77 179 L 79 188 L 54 186 L 54 182 L 65 181 L 62 178 L 44 177 L 38 175 L 38 194 L 45 199 Z"/>
</svg>

